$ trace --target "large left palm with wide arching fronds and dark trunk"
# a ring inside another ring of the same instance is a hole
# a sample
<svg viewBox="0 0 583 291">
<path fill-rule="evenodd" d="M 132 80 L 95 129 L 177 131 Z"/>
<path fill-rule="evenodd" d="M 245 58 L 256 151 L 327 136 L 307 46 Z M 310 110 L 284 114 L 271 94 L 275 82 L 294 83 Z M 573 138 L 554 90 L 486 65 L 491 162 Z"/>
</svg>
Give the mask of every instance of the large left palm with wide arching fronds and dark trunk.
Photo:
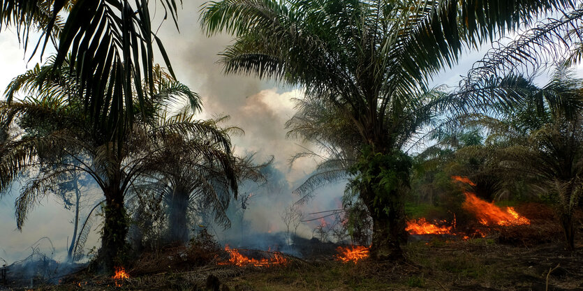
<svg viewBox="0 0 583 291">
<path fill-rule="evenodd" d="M 37 66 L 10 84 L 8 93 L 24 90 L 38 93 L 41 102 L 22 102 L 1 104 L 2 124 L 16 122 L 25 133 L 20 139 L 10 142 L 6 153 L 0 158 L 0 190 L 6 191 L 10 183 L 22 170 L 31 170 L 38 175 L 22 188 L 16 202 L 17 227 L 22 228 L 27 212 L 32 209 L 43 195 L 45 189 L 68 172 L 84 172 L 91 176 L 105 196 L 105 221 L 102 246 L 107 271 L 119 264 L 124 253 L 128 219 L 124 207 L 126 193 L 133 181 L 149 170 L 148 158 L 162 149 L 156 147 L 156 138 L 168 135 L 205 135 L 207 140 L 221 144 L 226 154 L 217 156 L 212 151 L 202 152 L 202 156 L 216 159 L 223 167 L 231 167 L 230 140 L 224 133 L 205 121 L 173 120 L 165 124 L 153 122 L 155 116 L 144 118 L 139 112 L 155 112 L 148 108 L 156 107 L 169 96 L 184 96 L 198 105 L 198 98 L 183 85 L 165 80 L 161 74 L 149 96 L 151 103 L 146 109 L 136 106 L 136 120 L 133 126 L 124 128 L 122 140 L 110 140 L 109 124 L 96 126 L 83 114 L 82 96 L 84 90 L 75 82 L 75 72 L 63 67 L 61 71 L 47 66 Z M 154 75 L 154 73 L 153 73 Z M 139 110 L 138 110 L 139 108 Z M 43 125 L 43 126 L 39 126 Z M 98 124 L 100 125 L 100 124 Z M 42 130 L 38 130 L 42 128 Z M 199 147 L 189 148 L 191 151 Z M 227 158 L 226 158 L 227 157 Z M 70 158 L 78 163 L 67 163 Z M 232 177 L 232 176 L 231 176 Z M 228 177 L 231 190 L 236 193 L 237 181 Z"/>
</svg>

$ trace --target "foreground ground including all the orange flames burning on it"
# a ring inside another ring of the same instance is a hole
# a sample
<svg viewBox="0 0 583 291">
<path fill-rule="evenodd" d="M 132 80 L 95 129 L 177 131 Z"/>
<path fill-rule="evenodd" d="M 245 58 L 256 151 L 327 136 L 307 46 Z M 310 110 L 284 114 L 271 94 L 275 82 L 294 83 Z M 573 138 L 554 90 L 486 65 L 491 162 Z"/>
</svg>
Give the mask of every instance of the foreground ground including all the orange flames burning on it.
<svg viewBox="0 0 583 291">
<path fill-rule="evenodd" d="M 453 177 L 470 188 L 461 178 Z M 202 232 L 189 246 L 147 251 L 113 276 L 95 276 L 89 264 L 38 290 L 582 290 L 582 213 L 576 216 L 577 251 L 568 252 L 549 206 L 505 207 L 471 191 L 462 195 L 463 219 L 407 221 L 408 260 L 399 264 L 367 260 L 369 246 L 315 237 L 293 235 L 283 246 L 283 234 L 267 232 L 256 239 L 271 246 L 247 249 Z M 27 282 L 15 283 L 8 285 L 29 290 Z"/>
</svg>

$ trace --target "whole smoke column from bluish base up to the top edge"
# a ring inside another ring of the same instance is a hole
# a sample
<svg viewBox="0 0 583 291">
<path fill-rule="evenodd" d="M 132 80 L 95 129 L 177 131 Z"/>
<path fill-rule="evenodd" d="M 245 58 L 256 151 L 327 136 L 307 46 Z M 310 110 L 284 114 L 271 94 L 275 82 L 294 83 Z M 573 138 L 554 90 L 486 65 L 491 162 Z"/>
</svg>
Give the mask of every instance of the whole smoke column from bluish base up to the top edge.
<svg viewBox="0 0 583 291">
<path fill-rule="evenodd" d="M 281 232 L 286 227 L 280 214 L 299 199 L 292 191 L 309 177 L 316 165 L 309 158 L 289 164 L 295 153 L 312 148 L 311 144 L 286 138 L 284 124 L 295 113 L 292 99 L 302 98 L 302 91 L 256 77 L 225 75 L 221 64 L 217 64 L 220 58 L 217 54 L 232 43 L 233 37 L 223 33 L 209 38 L 202 32 L 198 15 L 203 3 L 202 0 L 185 1 L 179 14 L 181 32 L 165 23 L 160 35 L 167 44 L 165 49 L 178 79 L 202 96 L 201 118 L 229 115 L 225 125 L 238 126 L 245 132 L 233 137 L 237 154 L 256 153 L 258 163 L 273 157 L 273 163 L 264 169 L 267 184 L 244 184 L 239 190 L 239 200 L 234 200 L 229 207 L 232 227 L 225 231 L 216 229 L 223 243 L 267 248 L 268 244 L 284 241 Z M 314 200 L 299 207 L 304 219 L 318 217 L 309 213 L 341 208 L 339 197 L 343 193 L 344 184 L 318 189 Z M 245 209 L 242 209 L 243 199 L 247 199 Z M 332 218 L 325 219 L 330 222 Z M 311 237 L 313 227 L 319 223 L 302 223 L 297 234 Z"/>
</svg>

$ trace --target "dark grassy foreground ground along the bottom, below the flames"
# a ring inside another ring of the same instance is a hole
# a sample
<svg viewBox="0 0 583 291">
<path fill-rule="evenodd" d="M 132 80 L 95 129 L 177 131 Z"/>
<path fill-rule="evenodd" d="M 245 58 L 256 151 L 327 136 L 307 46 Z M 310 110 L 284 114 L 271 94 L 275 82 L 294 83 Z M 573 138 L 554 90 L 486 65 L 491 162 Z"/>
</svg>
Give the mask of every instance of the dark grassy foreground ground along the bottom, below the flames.
<svg viewBox="0 0 583 291">
<path fill-rule="evenodd" d="M 343 264 L 331 256 L 288 257 L 285 267 L 207 264 L 156 271 L 128 268 L 130 279 L 115 281 L 90 272 L 38 290 L 583 290 L 583 241 L 577 251 L 560 244 L 512 246 L 494 239 L 417 241 L 405 247 L 408 262 Z M 167 256 L 167 255 L 166 255 Z M 559 267 L 557 267 L 559 266 Z M 142 274 L 138 274 L 142 273 Z M 26 289 L 22 289 L 26 290 Z M 212 290 L 212 288 L 210 289 Z"/>
</svg>

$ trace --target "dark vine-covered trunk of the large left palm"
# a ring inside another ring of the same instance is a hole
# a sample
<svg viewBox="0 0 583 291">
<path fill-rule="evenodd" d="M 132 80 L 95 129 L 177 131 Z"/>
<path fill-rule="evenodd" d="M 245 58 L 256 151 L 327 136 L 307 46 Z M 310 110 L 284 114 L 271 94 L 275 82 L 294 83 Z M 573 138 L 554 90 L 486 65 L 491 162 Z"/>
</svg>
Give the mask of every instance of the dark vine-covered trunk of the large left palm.
<svg viewBox="0 0 583 291">
<path fill-rule="evenodd" d="M 119 190 L 119 185 L 113 183 L 104 191 L 104 194 L 105 221 L 100 255 L 105 264 L 105 271 L 111 272 L 114 267 L 123 265 L 128 221 L 124 207 L 124 193 Z"/>
</svg>

